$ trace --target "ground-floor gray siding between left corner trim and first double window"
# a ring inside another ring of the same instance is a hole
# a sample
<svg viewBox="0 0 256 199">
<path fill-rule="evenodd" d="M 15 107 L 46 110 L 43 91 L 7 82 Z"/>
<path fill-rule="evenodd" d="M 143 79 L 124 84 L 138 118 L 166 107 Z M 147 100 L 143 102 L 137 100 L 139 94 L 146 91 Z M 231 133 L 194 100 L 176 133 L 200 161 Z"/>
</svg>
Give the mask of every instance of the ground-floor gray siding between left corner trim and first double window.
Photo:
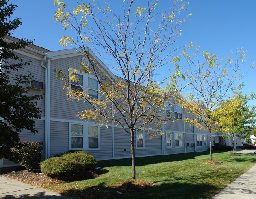
<svg viewBox="0 0 256 199">
<path fill-rule="evenodd" d="M 50 122 L 51 156 L 59 155 L 69 150 L 69 123 Z"/>
</svg>

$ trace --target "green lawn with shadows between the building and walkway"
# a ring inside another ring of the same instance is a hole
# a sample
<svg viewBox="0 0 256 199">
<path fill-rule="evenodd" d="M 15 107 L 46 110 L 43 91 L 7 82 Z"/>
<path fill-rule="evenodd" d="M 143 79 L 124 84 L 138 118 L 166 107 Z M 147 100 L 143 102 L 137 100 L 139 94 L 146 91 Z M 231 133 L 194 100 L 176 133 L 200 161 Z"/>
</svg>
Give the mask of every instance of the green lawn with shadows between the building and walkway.
<svg viewBox="0 0 256 199">
<path fill-rule="evenodd" d="M 98 162 L 104 173 L 100 177 L 47 188 L 80 198 L 211 198 L 256 163 L 254 156 L 230 153 L 213 153 L 218 166 L 203 164 L 209 152 L 137 158 L 137 179 L 154 185 L 148 189 L 115 187 L 131 179 L 130 159 Z"/>
</svg>

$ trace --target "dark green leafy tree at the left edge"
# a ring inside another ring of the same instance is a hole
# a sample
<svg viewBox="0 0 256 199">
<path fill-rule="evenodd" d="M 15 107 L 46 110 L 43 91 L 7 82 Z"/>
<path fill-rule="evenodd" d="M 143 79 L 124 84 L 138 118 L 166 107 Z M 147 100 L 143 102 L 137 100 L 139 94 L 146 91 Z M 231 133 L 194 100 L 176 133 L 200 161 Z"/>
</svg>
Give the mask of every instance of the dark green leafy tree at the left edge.
<svg viewBox="0 0 256 199">
<path fill-rule="evenodd" d="M 8 43 L 4 40 L 6 35 L 11 35 L 22 24 L 20 18 L 11 19 L 17 5 L 8 5 L 7 2 L 0 0 L 0 159 L 10 159 L 11 148 L 20 143 L 19 132 L 22 129 L 34 134 L 37 132 L 32 118 L 39 119 L 41 115 L 34 102 L 41 95 L 28 96 L 28 88 L 24 87 L 31 81 L 32 73 L 11 75 L 11 71 L 18 71 L 30 64 L 23 62 L 13 50 L 24 48 L 32 41 L 22 39 Z M 9 63 L 10 60 L 16 60 L 16 64 Z"/>
</svg>

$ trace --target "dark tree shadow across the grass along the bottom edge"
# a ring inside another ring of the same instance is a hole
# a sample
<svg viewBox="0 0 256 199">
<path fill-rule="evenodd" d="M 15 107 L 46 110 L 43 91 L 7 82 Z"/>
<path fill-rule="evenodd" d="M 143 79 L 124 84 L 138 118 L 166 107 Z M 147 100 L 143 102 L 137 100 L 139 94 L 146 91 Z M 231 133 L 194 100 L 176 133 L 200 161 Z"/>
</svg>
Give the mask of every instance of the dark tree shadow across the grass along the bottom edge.
<svg viewBox="0 0 256 199">
<path fill-rule="evenodd" d="M 163 182 L 154 185 L 152 188 L 125 190 L 120 187 L 108 187 L 104 183 L 98 186 L 91 186 L 83 190 L 66 190 L 61 194 L 72 195 L 79 199 L 98 199 L 98 198 L 211 198 L 221 189 L 210 184 L 188 184 L 178 182 Z M 121 193 L 121 194 L 120 194 Z"/>
</svg>

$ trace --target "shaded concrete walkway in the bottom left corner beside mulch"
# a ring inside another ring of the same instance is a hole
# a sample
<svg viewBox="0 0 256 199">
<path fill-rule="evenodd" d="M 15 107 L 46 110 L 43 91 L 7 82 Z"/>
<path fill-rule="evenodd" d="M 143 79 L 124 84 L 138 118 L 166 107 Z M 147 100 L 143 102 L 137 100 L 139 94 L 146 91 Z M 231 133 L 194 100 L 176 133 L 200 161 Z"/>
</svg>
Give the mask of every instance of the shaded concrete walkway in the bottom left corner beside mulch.
<svg viewBox="0 0 256 199">
<path fill-rule="evenodd" d="M 0 175 L 0 198 L 20 199 L 75 199 L 46 189 L 38 188 Z"/>
</svg>

